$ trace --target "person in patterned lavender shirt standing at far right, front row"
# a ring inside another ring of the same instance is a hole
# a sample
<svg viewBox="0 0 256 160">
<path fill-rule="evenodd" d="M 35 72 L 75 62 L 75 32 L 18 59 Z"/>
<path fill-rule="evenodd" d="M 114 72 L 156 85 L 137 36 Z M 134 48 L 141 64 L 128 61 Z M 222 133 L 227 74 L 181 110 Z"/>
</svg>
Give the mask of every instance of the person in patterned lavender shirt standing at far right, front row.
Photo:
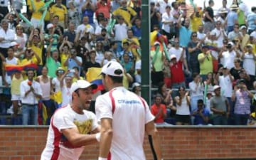
<svg viewBox="0 0 256 160">
<path fill-rule="evenodd" d="M 247 125 L 247 121 L 250 117 L 250 105 L 253 97 L 252 92 L 247 90 L 245 80 L 240 79 L 238 86 L 235 86 L 232 100 L 235 101 L 235 124 Z"/>
</svg>

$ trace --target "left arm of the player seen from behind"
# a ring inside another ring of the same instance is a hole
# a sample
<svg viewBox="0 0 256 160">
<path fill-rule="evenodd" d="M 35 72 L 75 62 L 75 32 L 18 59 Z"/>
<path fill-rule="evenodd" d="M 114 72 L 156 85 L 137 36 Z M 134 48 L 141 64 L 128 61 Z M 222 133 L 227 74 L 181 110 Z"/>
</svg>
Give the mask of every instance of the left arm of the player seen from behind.
<svg viewBox="0 0 256 160">
<path fill-rule="evenodd" d="M 100 119 L 100 158 L 107 159 L 113 137 L 112 119 Z"/>
</svg>

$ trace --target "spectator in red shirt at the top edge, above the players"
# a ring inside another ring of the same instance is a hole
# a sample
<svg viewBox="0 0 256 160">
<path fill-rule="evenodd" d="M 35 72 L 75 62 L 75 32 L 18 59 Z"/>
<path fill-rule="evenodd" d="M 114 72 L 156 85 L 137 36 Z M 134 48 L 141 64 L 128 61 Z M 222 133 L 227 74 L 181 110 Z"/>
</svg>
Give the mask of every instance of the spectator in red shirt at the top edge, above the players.
<svg viewBox="0 0 256 160">
<path fill-rule="evenodd" d="M 110 18 L 110 9 L 111 4 L 110 0 L 100 0 L 97 2 L 97 10 L 96 10 L 96 16 L 97 14 L 104 14 L 104 18 Z"/>
</svg>

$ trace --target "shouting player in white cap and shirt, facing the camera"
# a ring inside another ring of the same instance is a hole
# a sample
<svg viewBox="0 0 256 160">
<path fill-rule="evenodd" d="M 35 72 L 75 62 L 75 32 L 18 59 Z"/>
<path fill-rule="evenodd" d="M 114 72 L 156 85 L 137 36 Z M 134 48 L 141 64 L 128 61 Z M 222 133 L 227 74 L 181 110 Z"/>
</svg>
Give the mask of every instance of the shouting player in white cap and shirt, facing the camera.
<svg viewBox="0 0 256 160">
<path fill-rule="evenodd" d="M 100 132 L 95 114 L 87 111 L 95 88 L 85 80 L 73 83 L 73 100 L 53 115 L 41 159 L 79 159 L 85 145 L 100 141 L 100 134 L 95 134 Z"/>
</svg>

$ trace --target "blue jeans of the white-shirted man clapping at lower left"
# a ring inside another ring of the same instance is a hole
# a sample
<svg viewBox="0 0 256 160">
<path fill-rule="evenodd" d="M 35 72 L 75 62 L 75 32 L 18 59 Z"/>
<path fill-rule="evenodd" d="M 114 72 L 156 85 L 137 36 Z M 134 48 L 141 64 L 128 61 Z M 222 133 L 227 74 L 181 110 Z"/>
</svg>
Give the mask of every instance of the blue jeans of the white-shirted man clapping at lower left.
<svg viewBox="0 0 256 160">
<path fill-rule="evenodd" d="M 38 105 L 22 104 L 22 124 L 37 125 L 38 124 Z"/>
</svg>

